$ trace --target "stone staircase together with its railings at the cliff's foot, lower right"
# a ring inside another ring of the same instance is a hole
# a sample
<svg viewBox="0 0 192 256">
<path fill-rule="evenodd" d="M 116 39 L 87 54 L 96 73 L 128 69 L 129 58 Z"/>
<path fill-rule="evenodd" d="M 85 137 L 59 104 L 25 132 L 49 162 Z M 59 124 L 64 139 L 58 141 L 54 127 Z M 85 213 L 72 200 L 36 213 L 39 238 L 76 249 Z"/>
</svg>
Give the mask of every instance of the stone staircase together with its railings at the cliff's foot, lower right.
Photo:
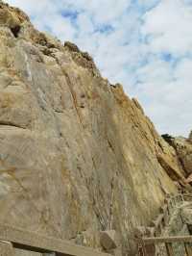
<svg viewBox="0 0 192 256">
<path fill-rule="evenodd" d="M 168 195 L 148 227 L 135 230 L 138 256 L 192 256 L 192 236 L 182 209 L 191 206 L 192 194 Z"/>
</svg>

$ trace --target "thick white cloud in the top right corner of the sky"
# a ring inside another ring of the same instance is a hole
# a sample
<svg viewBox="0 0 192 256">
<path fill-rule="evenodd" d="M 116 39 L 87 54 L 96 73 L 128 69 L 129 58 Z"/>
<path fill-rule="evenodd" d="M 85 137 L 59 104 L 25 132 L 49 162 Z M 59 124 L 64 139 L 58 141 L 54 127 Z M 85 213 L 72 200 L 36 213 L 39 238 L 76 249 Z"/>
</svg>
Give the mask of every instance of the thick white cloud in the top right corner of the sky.
<svg viewBox="0 0 192 256">
<path fill-rule="evenodd" d="M 192 49 L 192 7 L 181 0 L 162 0 L 144 16 L 142 32 L 153 52 L 187 54 Z"/>
</svg>

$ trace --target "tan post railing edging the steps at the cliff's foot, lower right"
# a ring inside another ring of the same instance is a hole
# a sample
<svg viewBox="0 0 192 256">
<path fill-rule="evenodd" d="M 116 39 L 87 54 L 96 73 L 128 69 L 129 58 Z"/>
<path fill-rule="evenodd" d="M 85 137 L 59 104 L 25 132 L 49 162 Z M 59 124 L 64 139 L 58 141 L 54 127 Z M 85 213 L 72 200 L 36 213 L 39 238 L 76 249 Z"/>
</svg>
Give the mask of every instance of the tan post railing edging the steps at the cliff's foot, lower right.
<svg viewBox="0 0 192 256">
<path fill-rule="evenodd" d="M 185 200 L 192 201 L 192 194 L 169 195 L 150 226 L 137 228 L 139 256 L 192 256 L 192 236 L 161 237 L 173 213 Z M 179 252 L 175 253 L 177 249 Z"/>
</svg>

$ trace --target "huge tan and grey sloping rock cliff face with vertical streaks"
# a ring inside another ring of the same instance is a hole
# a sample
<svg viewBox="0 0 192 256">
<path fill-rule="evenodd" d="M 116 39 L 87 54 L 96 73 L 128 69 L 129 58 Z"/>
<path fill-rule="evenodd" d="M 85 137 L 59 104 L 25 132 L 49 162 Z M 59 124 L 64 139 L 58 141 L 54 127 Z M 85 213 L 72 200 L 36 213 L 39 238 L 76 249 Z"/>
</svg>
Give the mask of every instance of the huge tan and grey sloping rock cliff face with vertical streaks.
<svg viewBox="0 0 192 256">
<path fill-rule="evenodd" d="M 115 229 L 134 255 L 134 227 L 185 177 L 136 99 L 0 3 L 1 222 L 98 248 Z"/>
</svg>

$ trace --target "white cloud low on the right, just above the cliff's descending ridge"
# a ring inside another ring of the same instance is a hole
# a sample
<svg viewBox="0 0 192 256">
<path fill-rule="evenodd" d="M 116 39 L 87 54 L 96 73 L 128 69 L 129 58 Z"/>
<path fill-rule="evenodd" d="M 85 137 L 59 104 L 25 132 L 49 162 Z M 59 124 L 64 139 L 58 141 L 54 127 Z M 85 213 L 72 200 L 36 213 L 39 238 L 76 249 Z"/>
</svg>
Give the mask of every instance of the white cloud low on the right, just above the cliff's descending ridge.
<svg viewBox="0 0 192 256">
<path fill-rule="evenodd" d="M 183 59 L 173 68 L 157 58 L 137 70 L 141 81 L 137 93 L 161 133 L 188 135 L 191 129 L 190 70 L 190 59 Z"/>
</svg>

